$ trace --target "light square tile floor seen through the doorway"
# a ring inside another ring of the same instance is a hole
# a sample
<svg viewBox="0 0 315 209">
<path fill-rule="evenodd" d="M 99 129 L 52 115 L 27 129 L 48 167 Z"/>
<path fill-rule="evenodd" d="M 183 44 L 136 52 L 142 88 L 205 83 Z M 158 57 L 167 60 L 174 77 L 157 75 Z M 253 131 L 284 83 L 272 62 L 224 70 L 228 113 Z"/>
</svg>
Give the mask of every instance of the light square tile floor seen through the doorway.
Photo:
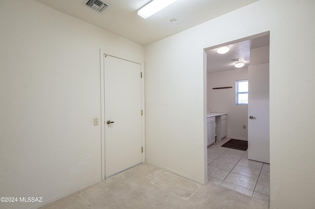
<svg viewBox="0 0 315 209">
<path fill-rule="evenodd" d="M 248 159 L 248 150 L 221 147 L 230 138 L 208 147 L 208 179 L 243 194 L 270 201 L 268 163 Z"/>
</svg>

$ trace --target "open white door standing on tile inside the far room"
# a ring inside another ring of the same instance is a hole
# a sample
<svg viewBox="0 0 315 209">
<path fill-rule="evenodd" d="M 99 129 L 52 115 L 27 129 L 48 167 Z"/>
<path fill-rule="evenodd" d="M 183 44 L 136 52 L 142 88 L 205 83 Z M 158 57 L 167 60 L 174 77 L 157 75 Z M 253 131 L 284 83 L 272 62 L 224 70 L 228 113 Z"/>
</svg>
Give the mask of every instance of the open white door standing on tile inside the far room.
<svg viewBox="0 0 315 209">
<path fill-rule="evenodd" d="M 248 158 L 270 163 L 269 63 L 248 67 L 248 85 Z"/>
</svg>

